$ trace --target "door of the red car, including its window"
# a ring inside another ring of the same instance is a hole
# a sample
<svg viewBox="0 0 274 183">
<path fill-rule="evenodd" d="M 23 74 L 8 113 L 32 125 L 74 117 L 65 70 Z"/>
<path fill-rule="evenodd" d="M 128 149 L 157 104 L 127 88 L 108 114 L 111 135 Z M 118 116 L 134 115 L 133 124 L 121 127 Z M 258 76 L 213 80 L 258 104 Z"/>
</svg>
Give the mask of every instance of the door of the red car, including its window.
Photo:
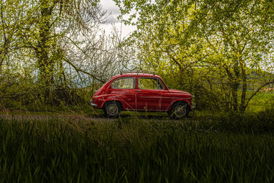
<svg viewBox="0 0 274 183">
<path fill-rule="evenodd" d="M 169 90 L 157 77 L 138 77 L 137 110 L 166 110 L 170 103 Z"/>
</svg>

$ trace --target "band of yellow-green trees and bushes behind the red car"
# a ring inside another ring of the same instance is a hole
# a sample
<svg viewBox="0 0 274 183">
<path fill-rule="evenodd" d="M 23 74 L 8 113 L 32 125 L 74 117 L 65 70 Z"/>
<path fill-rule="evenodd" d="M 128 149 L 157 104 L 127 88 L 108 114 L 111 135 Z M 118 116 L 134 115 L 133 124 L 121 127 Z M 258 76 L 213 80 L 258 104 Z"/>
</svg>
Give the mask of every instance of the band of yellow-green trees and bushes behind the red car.
<svg viewBox="0 0 274 183">
<path fill-rule="evenodd" d="M 104 34 L 100 1 L 1 0 L 0 108 L 86 105 L 110 77 L 140 69 L 200 110 L 245 111 L 273 87 L 273 1 L 115 2 L 137 27 L 127 38 Z"/>
</svg>

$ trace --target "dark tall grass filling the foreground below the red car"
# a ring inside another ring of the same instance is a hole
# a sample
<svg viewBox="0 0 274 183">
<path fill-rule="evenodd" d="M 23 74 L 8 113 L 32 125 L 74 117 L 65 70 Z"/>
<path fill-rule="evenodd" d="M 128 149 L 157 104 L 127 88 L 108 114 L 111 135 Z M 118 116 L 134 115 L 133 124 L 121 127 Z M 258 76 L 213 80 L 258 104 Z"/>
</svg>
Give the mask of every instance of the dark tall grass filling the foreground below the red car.
<svg viewBox="0 0 274 183">
<path fill-rule="evenodd" d="M 274 110 L 108 123 L 0 119 L 0 182 L 273 182 Z"/>
</svg>

